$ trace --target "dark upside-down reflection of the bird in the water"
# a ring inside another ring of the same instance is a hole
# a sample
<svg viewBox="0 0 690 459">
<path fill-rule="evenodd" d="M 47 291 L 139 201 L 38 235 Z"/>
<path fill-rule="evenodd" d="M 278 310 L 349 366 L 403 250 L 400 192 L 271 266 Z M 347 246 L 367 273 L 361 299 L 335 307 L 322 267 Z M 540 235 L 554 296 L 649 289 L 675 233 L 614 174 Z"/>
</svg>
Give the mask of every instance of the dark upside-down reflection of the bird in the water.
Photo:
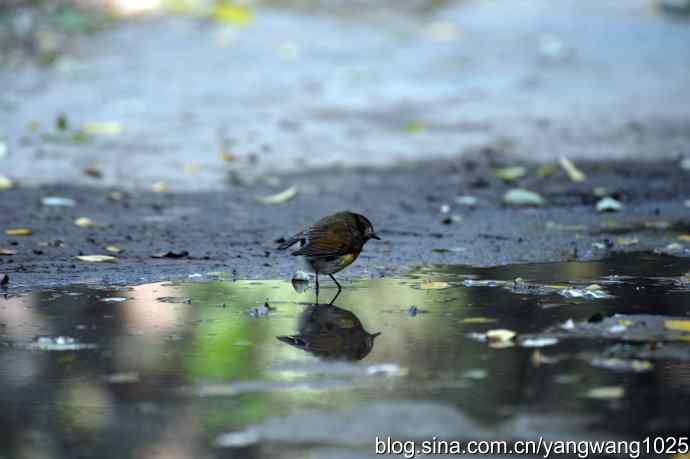
<svg viewBox="0 0 690 459">
<path fill-rule="evenodd" d="M 300 315 L 298 334 L 277 338 L 323 359 L 356 361 L 369 355 L 380 334 L 368 333 L 353 312 L 331 301 L 308 306 Z"/>
</svg>

